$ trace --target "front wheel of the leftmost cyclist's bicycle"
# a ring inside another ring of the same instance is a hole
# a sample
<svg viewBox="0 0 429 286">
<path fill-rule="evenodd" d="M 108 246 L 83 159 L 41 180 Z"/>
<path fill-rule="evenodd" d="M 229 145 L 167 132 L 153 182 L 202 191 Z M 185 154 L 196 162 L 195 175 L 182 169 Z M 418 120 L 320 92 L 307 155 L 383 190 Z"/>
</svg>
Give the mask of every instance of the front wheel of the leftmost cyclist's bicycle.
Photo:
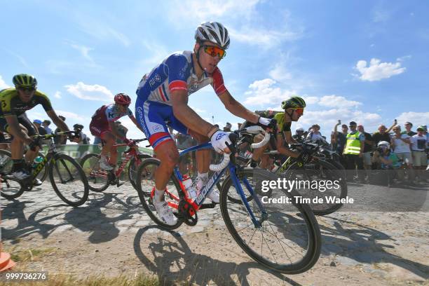
<svg viewBox="0 0 429 286">
<path fill-rule="evenodd" d="M 49 164 L 49 179 L 57 195 L 73 207 L 88 199 L 88 181 L 81 165 L 65 154 L 57 154 Z"/>
</svg>

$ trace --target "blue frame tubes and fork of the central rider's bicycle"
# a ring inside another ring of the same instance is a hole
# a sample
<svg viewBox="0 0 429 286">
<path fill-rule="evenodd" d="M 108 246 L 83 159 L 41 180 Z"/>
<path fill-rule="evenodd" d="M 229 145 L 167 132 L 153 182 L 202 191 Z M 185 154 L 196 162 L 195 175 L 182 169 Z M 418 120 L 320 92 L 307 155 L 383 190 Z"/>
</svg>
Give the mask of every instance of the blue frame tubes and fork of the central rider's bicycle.
<svg viewBox="0 0 429 286">
<path fill-rule="evenodd" d="M 184 154 L 187 154 L 187 153 L 192 152 L 192 151 L 198 151 L 198 150 L 203 150 L 203 149 L 212 149 L 212 144 L 209 142 L 209 143 L 200 144 L 200 145 L 188 148 L 188 149 L 184 149 L 182 152 L 180 152 L 179 156 L 183 156 Z M 233 184 L 234 184 L 234 186 L 236 186 L 237 193 L 240 196 L 241 200 L 243 200 L 243 203 L 247 209 L 247 212 L 250 214 L 250 217 L 252 219 L 254 226 L 258 227 L 258 228 L 261 227 L 261 223 L 267 217 L 265 207 L 264 207 L 264 205 L 262 205 L 261 200 L 259 199 L 257 194 L 254 192 L 250 183 L 247 181 L 247 178 L 246 177 L 241 178 L 241 181 L 245 184 L 246 189 L 249 191 L 252 198 L 256 201 L 256 203 L 259 207 L 259 210 L 261 210 L 261 214 L 262 214 L 261 215 L 261 221 L 259 221 L 255 217 L 254 213 L 252 212 L 252 209 L 250 208 L 249 202 L 247 202 L 247 198 L 246 198 L 245 193 L 243 191 L 243 188 L 241 187 L 241 184 L 240 184 L 240 179 L 238 179 L 238 177 L 236 175 L 236 169 L 237 169 L 236 165 L 231 163 L 231 161 L 226 166 L 226 168 L 224 168 L 220 171 L 214 172 L 212 177 L 210 177 L 210 179 L 208 180 L 207 184 L 205 184 L 205 186 L 203 186 L 203 189 L 200 190 L 200 193 L 198 193 L 198 197 L 194 200 L 194 203 L 196 204 L 197 209 L 199 209 L 201 207 L 201 205 L 203 205 L 205 198 L 210 193 L 210 191 L 212 191 L 213 187 L 217 184 L 217 182 L 219 182 L 219 179 L 222 177 L 222 175 L 224 174 L 226 169 L 229 169 L 229 174 L 231 175 L 231 179 L 233 181 Z M 175 176 L 177 177 L 177 179 L 179 179 L 180 182 L 182 182 L 183 177 L 182 177 L 182 174 L 180 173 L 179 168 L 177 166 L 175 167 L 174 172 L 175 172 Z"/>
</svg>

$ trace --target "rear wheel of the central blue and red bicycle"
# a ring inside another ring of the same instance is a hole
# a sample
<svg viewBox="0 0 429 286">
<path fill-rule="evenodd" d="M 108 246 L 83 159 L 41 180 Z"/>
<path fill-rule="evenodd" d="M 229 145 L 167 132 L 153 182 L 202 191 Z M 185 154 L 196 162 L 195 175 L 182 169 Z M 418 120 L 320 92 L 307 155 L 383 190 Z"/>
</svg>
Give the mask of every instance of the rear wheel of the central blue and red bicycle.
<svg viewBox="0 0 429 286">
<path fill-rule="evenodd" d="M 139 195 L 140 202 L 142 202 L 144 210 L 147 212 L 149 217 L 156 223 L 158 226 L 161 226 L 163 229 L 172 230 L 177 229 L 182 224 L 182 219 L 177 219 L 177 223 L 174 225 L 165 224 L 159 217 L 158 214 L 156 214 L 155 206 L 154 206 L 154 199 L 152 192 L 155 188 L 155 175 L 156 170 L 159 167 L 159 160 L 156 158 L 148 158 L 143 161 L 142 164 L 139 165 L 139 168 L 137 170 L 137 188 L 136 191 Z M 170 181 L 168 181 L 166 189 L 170 193 L 170 196 L 168 196 L 167 193 L 165 193 L 164 199 L 168 204 L 171 205 L 175 204 L 178 205 L 179 201 L 176 198 L 179 198 L 179 190 L 180 185 L 179 181 L 175 177 L 174 174 L 171 175 Z M 177 214 L 177 208 L 172 208 L 173 214 Z"/>
</svg>

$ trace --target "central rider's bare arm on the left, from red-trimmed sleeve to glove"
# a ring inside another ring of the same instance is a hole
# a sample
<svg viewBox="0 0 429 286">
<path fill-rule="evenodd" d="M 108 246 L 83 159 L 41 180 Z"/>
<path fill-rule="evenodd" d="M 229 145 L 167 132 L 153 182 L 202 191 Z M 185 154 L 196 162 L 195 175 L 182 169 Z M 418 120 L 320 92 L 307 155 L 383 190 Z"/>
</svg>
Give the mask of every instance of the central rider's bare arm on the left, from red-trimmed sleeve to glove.
<svg viewBox="0 0 429 286">
<path fill-rule="evenodd" d="M 188 105 L 188 91 L 175 90 L 171 93 L 173 114 L 187 128 L 210 137 L 217 128 L 198 116 Z"/>
</svg>

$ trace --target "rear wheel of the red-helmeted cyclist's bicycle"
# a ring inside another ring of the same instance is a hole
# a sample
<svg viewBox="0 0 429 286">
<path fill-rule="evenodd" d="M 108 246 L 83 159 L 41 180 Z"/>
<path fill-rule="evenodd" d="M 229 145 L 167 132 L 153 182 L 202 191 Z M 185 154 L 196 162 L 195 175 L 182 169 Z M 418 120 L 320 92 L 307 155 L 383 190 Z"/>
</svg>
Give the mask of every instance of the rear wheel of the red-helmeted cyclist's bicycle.
<svg viewBox="0 0 429 286">
<path fill-rule="evenodd" d="M 109 172 L 100 168 L 100 155 L 86 154 L 81 160 L 81 166 L 91 191 L 105 191 L 109 187 Z"/>
</svg>

